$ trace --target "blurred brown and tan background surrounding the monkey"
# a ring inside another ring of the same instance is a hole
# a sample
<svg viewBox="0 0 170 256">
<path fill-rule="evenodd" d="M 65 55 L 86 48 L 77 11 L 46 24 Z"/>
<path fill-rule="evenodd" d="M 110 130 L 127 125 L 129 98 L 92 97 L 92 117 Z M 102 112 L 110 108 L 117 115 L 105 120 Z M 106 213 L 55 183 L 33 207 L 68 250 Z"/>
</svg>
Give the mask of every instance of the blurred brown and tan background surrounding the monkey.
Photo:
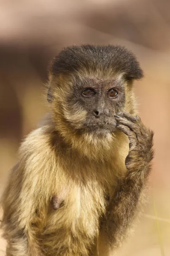
<svg viewBox="0 0 170 256">
<path fill-rule="evenodd" d="M 122 44 L 145 78 L 139 115 L 155 131 L 149 203 L 117 256 L 170 255 L 170 1 L 0 0 L 0 193 L 23 139 L 46 113 L 47 68 L 71 44 Z M 0 239 L 0 256 L 6 242 Z"/>
</svg>

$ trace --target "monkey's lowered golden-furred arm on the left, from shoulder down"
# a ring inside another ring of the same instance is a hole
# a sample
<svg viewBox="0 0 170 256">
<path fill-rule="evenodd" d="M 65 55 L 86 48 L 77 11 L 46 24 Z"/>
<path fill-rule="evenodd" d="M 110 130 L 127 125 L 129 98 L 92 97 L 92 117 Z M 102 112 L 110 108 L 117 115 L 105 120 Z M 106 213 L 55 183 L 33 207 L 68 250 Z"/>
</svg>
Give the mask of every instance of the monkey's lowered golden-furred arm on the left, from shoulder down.
<svg viewBox="0 0 170 256">
<path fill-rule="evenodd" d="M 43 222 L 49 198 L 45 198 L 48 193 L 42 193 L 42 189 L 46 188 L 45 184 L 41 184 L 41 177 L 43 170 L 46 170 L 47 152 L 44 157 L 42 140 L 37 135 L 39 131 L 40 128 L 33 131 L 22 143 L 19 162 L 11 170 L 2 198 L 1 226 L 7 240 L 7 256 L 42 256 L 35 236 L 35 224 Z M 35 147 L 36 137 L 41 147 Z M 39 215 L 37 209 L 40 209 Z"/>
</svg>

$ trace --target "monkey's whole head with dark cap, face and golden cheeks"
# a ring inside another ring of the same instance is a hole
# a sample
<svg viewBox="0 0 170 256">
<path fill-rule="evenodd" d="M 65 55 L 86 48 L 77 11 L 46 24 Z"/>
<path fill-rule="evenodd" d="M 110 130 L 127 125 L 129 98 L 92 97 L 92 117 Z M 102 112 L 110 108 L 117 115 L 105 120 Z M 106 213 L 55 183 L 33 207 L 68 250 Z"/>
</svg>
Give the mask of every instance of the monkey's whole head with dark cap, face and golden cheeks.
<svg viewBox="0 0 170 256">
<path fill-rule="evenodd" d="M 142 69 L 121 46 L 72 46 L 57 55 L 50 68 L 48 101 L 56 128 L 69 140 L 114 136 L 114 114 L 135 111 L 132 82 Z"/>
</svg>

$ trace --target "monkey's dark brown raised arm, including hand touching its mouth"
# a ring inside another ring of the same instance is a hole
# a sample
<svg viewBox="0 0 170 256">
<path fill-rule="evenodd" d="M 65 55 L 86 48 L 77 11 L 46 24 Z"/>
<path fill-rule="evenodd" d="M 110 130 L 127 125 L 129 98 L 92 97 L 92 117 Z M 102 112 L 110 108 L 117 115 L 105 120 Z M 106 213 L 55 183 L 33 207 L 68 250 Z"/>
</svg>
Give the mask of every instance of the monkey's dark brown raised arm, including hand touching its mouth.
<svg viewBox="0 0 170 256">
<path fill-rule="evenodd" d="M 113 247 L 119 246 L 132 224 L 153 158 L 153 131 L 138 116 L 120 113 L 115 118 L 117 128 L 129 138 L 129 154 L 125 160 L 127 174 L 119 181 L 102 224 L 102 232 Z"/>
</svg>

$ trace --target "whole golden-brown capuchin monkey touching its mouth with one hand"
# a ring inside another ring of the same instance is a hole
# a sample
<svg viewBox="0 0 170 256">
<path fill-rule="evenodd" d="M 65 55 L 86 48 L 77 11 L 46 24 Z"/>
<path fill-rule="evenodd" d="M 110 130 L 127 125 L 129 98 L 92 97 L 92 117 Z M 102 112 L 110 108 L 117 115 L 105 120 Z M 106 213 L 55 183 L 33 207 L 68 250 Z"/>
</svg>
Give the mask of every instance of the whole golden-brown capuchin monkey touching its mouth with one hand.
<svg viewBox="0 0 170 256">
<path fill-rule="evenodd" d="M 136 115 L 139 62 L 122 46 L 63 49 L 50 113 L 20 146 L 3 195 L 6 256 L 110 256 L 138 212 L 153 131 Z"/>
</svg>

